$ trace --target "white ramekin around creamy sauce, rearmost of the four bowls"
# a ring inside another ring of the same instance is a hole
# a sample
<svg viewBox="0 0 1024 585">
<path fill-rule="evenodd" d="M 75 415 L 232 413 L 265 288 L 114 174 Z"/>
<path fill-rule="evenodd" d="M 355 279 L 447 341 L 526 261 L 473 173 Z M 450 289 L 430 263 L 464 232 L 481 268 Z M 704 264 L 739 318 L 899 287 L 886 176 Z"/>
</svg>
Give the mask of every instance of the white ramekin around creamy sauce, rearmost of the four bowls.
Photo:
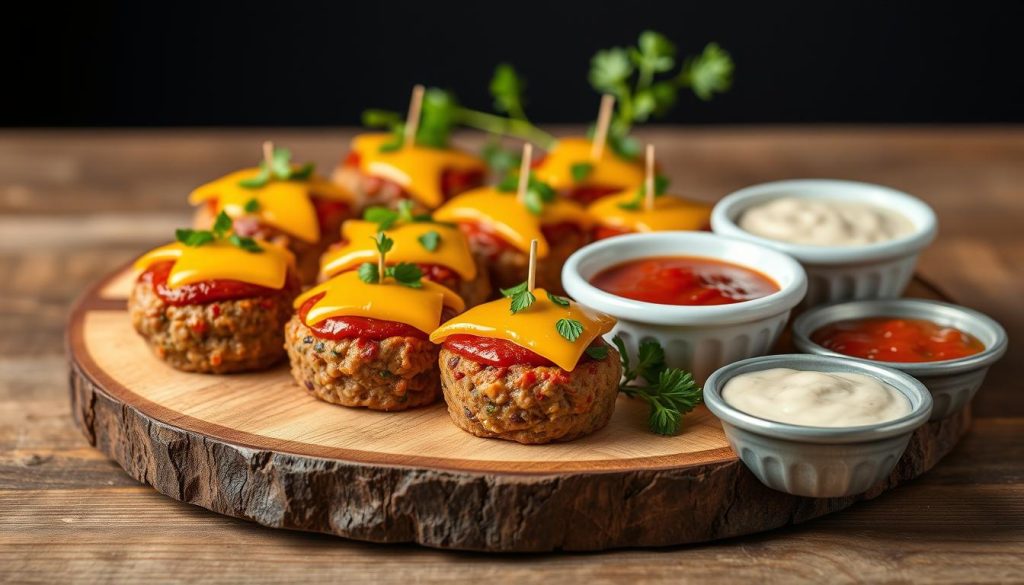
<svg viewBox="0 0 1024 585">
<path fill-rule="evenodd" d="M 780 197 L 855 201 L 891 209 L 910 220 L 914 232 L 867 246 L 807 246 L 769 240 L 739 227 L 743 211 Z M 807 269 L 806 306 L 842 300 L 896 298 L 913 276 L 918 255 L 938 229 L 935 212 L 905 193 L 848 180 L 797 179 L 766 182 L 737 191 L 712 211 L 716 234 L 739 238 L 790 254 Z"/>
</svg>

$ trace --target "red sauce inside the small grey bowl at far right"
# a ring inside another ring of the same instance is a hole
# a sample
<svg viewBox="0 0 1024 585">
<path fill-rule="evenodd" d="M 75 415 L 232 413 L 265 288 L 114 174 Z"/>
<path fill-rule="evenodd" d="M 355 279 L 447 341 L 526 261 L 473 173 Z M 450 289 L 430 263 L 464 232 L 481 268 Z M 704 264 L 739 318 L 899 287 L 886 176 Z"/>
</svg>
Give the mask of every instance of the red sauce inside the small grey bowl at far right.
<svg viewBox="0 0 1024 585">
<path fill-rule="evenodd" d="M 811 340 L 837 353 L 879 362 L 939 362 L 985 349 L 976 337 L 958 329 L 891 317 L 833 323 L 815 331 Z"/>
</svg>

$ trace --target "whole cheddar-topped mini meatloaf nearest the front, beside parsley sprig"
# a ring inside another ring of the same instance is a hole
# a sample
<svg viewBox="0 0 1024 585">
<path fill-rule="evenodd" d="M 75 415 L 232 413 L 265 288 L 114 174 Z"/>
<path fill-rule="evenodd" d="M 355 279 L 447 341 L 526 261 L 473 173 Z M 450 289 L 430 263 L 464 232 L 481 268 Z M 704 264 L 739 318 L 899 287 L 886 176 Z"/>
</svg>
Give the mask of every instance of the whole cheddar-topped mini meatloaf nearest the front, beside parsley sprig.
<svg viewBox="0 0 1024 585">
<path fill-rule="evenodd" d="M 443 343 L 441 387 L 452 420 L 477 436 L 523 444 L 598 430 L 611 417 L 622 377 L 618 352 L 601 340 L 613 325 L 525 287 L 441 325 L 430 340 Z"/>
</svg>

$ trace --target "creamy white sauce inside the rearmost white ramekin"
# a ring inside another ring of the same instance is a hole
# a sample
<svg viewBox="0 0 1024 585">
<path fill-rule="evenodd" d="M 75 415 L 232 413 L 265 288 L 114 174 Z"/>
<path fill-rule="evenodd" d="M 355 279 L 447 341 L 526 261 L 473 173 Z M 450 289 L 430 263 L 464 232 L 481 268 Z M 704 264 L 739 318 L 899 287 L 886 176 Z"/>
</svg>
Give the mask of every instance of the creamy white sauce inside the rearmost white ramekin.
<svg viewBox="0 0 1024 585">
<path fill-rule="evenodd" d="M 883 207 L 852 201 L 781 197 L 739 217 L 755 236 L 808 246 L 865 246 L 913 233 L 913 223 Z"/>
</svg>

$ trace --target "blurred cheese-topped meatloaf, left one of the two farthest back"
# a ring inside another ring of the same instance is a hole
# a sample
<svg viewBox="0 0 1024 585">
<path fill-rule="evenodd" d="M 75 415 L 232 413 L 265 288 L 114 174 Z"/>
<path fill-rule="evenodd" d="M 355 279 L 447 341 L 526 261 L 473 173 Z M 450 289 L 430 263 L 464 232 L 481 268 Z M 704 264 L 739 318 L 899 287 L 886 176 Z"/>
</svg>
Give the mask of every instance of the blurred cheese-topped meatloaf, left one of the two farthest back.
<svg viewBox="0 0 1024 585">
<path fill-rule="evenodd" d="M 417 210 L 432 210 L 486 178 L 486 163 L 469 153 L 421 143 L 393 148 L 393 142 L 389 133 L 355 136 L 334 172 L 335 183 L 357 194 L 366 205 L 394 208 L 399 201 L 412 201 Z"/>
</svg>

